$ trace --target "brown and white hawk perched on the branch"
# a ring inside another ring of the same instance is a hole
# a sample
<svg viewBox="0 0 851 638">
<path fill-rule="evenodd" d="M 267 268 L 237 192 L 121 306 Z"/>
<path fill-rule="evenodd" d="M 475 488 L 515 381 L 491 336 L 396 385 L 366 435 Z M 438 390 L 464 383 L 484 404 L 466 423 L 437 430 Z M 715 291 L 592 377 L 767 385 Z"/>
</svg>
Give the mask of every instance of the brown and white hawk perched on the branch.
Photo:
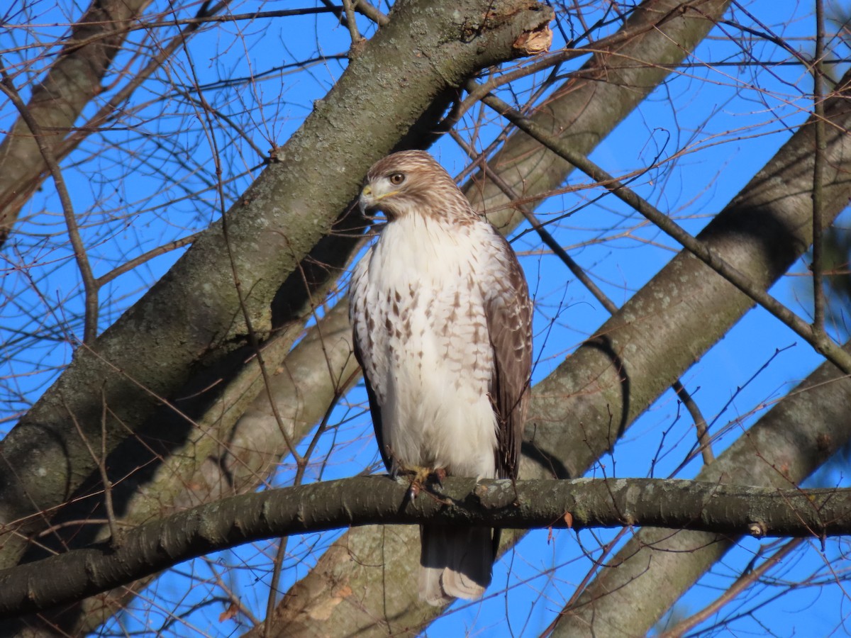
<svg viewBox="0 0 851 638">
<path fill-rule="evenodd" d="M 350 306 L 387 469 L 516 478 L 532 365 L 517 256 L 424 151 L 370 168 L 360 205 L 387 218 L 355 268 Z M 482 595 L 498 532 L 420 527 L 420 598 Z"/>
</svg>

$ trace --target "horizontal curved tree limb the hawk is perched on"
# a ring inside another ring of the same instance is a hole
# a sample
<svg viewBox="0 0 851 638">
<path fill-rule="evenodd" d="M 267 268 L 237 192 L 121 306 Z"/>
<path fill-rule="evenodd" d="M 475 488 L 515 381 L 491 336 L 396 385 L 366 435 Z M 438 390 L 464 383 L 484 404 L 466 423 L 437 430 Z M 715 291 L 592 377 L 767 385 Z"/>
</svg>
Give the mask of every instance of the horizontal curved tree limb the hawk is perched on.
<svg viewBox="0 0 851 638">
<path fill-rule="evenodd" d="M 648 524 L 797 538 L 851 533 L 851 489 L 779 490 L 660 479 L 477 484 L 449 478 L 413 502 L 407 493 L 404 481 L 366 476 L 200 505 L 134 528 L 117 548 L 100 544 L 0 572 L 0 618 L 43 611 L 236 544 L 350 525 L 428 521 L 582 529 Z M 44 578 L 45 573 L 54 578 Z"/>
</svg>

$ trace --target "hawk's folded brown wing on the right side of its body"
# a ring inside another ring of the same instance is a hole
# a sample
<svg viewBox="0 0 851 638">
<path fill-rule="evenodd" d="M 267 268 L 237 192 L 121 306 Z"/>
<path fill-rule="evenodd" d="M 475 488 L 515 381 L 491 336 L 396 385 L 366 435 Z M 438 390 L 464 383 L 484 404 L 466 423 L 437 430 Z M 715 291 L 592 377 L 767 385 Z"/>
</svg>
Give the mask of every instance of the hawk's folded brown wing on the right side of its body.
<svg viewBox="0 0 851 638">
<path fill-rule="evenodd" d="M 508 273 L 505 278 L 488 282 L 491 288 L 485 312 L 494 348 L 490 396 L 499 428 L 496 476 L 513 479 L 520 465 L 532 370 L 532 303 L 517 256 L 502 236 L 500 239 Z"/>
</svg>

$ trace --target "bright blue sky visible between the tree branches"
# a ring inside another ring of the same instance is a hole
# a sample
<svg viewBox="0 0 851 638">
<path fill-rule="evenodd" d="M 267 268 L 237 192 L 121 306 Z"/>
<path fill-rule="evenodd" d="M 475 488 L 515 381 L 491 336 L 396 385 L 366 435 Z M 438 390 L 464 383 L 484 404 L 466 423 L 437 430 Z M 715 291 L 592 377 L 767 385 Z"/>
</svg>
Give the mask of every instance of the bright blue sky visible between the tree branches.
<svg viewBox="0 0 851 638">
<path fill-rule="evenodd" d="M 304 3 L 309 5 L 310 2 Z M 293 6 L 294 3 L 245 2 L 234 5 L 231 11 Z M 776 35 L 788 38 L 793 48 L 803 52 L 811 48 L 805 39 L 797 39 L 813 32 L 809 5 L 757 0 L 748 4 L 747 10 Z M 30 11 L 29 21 L 48 25 L 39 30 L 43 38 L 55 37 L 61 31 L 61 27 L 49 26 L 50 23 L 66 20 L 52 3 L 31 3 Z M 77 10 L 71 10 L 71 18 L 76 16 Z M 589 20 L 592 17 L 589 15 Z M 741 9 L 734 9 L 728 18 L 753 24 Z M 371 32 L 365 20 L 361 25 L 364 32 Z M 574 26 L 578 28 L 578 24 Z M 700 231 L 772 157 L 810 108 L 807 94 L 811 81 L 800 66 L 711 66 L 740 60 L 780 63 L 790 58 L 787 52 L 760 39 L 750 41 L 745 52 L 728 42 L 725 33 L 740 36 L 733 26 L 713 31 L 688 60 L 688 68 L 672 75 L 591 156 L 612 174 L 646 167 L 659 157 L 660 166 L 637 179 L 632 187 L 692 233 Z M 143 32 L 138 32 L 134 40 L 142 43 L 144 37 Z M 165 32 L 159 37 L 164 38 Z M 0 49 L 32 42 L 22 31 L 0 33 Z M 237 128 L 260 152 L 266 152 L 272 143 L 283 144 L 300 126 L 313 100 L 322 98 L 333 86 L 346 62 L 330 59 L 306 68 L 289 65 L 319 55 L 345 54 L 348 43 L 348 31 L 335 26 L 327 14 L 225 25 L 194 37 L 188 51 L 176 55 L 166 70 L 136 94 L 132 104 L 138 105 L 137 109 L 125 113 L 109 130 L 93 136 L 63 163 L 75 210 L 83 220 L 95 273 L 101 275 L 134 254 L 199 231 L 217 217 L 208 140 L 198 127 L 190 99 L 180 97 L 181 88 L 191 89 L 195 77 L 198 83 L 212 85 L 205 96 L 237 122 Z M 563 46 L 563 40 L 557 31 L 553 48 L 559 46 Z M 43 51 L 25 48 L 18 58 L 6 54 L 4 60 L 7 65 L 9 60 L 22 65 L 25 58 L 39 53 Z M 120 56 L 118 63 L 131 68 L 139 64 L 127 55 Z M 27 81 L 37 77 L 39 68 L 35 65 L 30 77 L 22 75 L 16 80 L 25 96 Z M 249 75 L 256 78 L 254 82 L 233 82 L 233 78 Z M 528 86 L 521 83 L 517 90 L 526 91 Z M 165 106 L 157 101 L 163 90 L 171 92 Z M 188 94 L 191 96 L 191 92 Z M 107 92 L 103 97 L 108 95 Z M 90 109 L 89 115 L 91 112 Z M 493 120 L 487 111 L 484 115 Z M 8 129 L 12 118 L 14 113 L 6 105 L 0 111 L 0 127 Z M 477 122 L 477 111 L 473 111 L 465 119 L 462 134 L 469 134 Z M 495 121 L 482 126 L 478 147 L 481 140 L 489 140 L 497 130 Z M 262 157 L 235 128 L 222 124 L 215 134 L 226 167 L 226 193 L 234 198 L 259 173 Z M 448 138 L 431 151 L 450 173 L 457 174 L 465 167 L 464 154 Z M 580 174 L 573 174 L 568 185 L 586 181 Z M 596 196 L 599 191 L 590 192 Z M 621 305 L 660 271 L 678 248 L 613 197 L 584 206 L 588 193 L 575 191 L 551 197 L 537 213 L 541 219 L 550 219 L 575 209 L 574 214 L 551 225 L 550 230 L 608 296 Z M 4 293 L 0 299 L 0 342 L 5 344 L 6 353 L 0 363 L 0 378 L 5 379 L 5 413 L 0 415 L 5 420 L 0 421 L 0 434 L 49 386 L 61 366 L 70 360 L 71 335 L 80 335 L 75 319 L 82 308 L 79 276 L 65 245 L 60 207 L 51 184 L 32 199 L 25 214 L 26 221 L 4 248 L 0 265 Z M 607 313 L 579 282 L 571 281 L 572 276 L 556 257 L 540 254 L 536 237 L 523 234 L 523 230 L 516 233 L 518 238 L 513 245 L 522 256 L 538 308 L 535 333 L 539 363 L 534 370 L 537 381 L 593 333 Z M 101 329 L 163 276 L 179 254 L 180 251 L 168 253 L 118 277 L 102 299 Z M 799 263 L 794 270 L 804 271 L 803 265 Z M 807 296 L 799 280 L 784 277 L 772 293 L 793 310 L 806 314 Z M 36 329 L 49 338 L 17 345 L 17 331 L 31 333 Z M 775 356 L 778 349 L 782 351 Z M 720 453 L 766 406 L 784 396 L 791 385 L 819 363 L 820 358 L 808 345 L 757 309 L 748 313 L 682 379 L 707 419 L 717 419 L 713 432 L 730 426 L 729 433 L 715 444 L 716 453 Z M 764 364 L 768 365 L 763 369 Z M 749 382 L 755 374 L 756 378 Z M 333 438 L 327 436 L 317 451 L 317 458 L 328 455 L 323 478 L 351 476 L 377 456 L 368 415 L 351 407 L 351 403 L 363 402 L 363 390 L 353 390 L 347 402 L 350 405 L 338 408 L 331 422 L 349 420 L 334 430 Z M 627 432 L 615 448 L 614 458 L 604 460 L 608 476 L 649 476 L 651 460 L 656 456 L 660 458 L 654 466 L 654 476 L 668 476 L 692 446 L 693 430 L 691 420 L 678 407 L 671 391 L 665 393 Z M 695 460 L 677 476 L 688 478 L 698 470 L 700 463 Z M 597 466 L 590 474 L 600 476 L 600 472 Z M 291 478 L 284 459 L 277 483 L 285 485 Z M 830 480 L 845 482 L 839 470 Z M 529 533 L 498 563 L 494 586 L 484 601 L 456 604 L 428 633 L 540 633 L 591 567 L 582 548 L 597 548 L 613 536 L 612 531 L 583 532 L 580 545 L 576 534 L 570 531 L 555 532 L 551 539 L 546 531 Z M 315 560 L 315 545 L 325 546 L 328 542 L 328 535 L 290 540 L 284 590 L 303 576 L 311 560 Z M 679 611 L 695 612 L 716 598 L 745 567 L 758 545 L 751 539 L 743 541 L 684 596 Z M 848 601 L 840 584 L 831 584 L 828 571 L 831 565 L 842 565 L 840 553 L 845 549 L 840 539 L 829 542 L 824 555 L 816 546 L 798 550 L 775 573 L 780 578 L 778 583 L 755 588 L 743 602 L 736 603 L 742 611 L 750 607 L 757 607 L 757 611 L 736 619 L 731 627 L 757 635 L 766 630 L 777 635 L 845 633 L 842 620 Z M 206 584 L 212 578 L 212 570 L 225 572 L 225 567 L 236 565 L 228 578 L 240 591 L 243 603 L 262 618 L 271 554 L 269 544 L 254 544 L 212 557 L 212 566 L 201 560 L 191 561 L 161 578 L 144 598 L 158 597 L 162 603 L 186 595 L 180 605 L 189 608 L 214 591 Z M 814 572 L 825 580 L 823 587 L 800 588 L 786 594 L 785 602 L 759 607 L 783 588 L 791 589 L 788 583 L 808 578 Z M 188 578 L 194 586 L 186 594 Z M 134 609 L 121 617 L 123 626 L 132 630 L 148 622 L 156 624 L 162 612 L 146 607 L 144 600 L 134 604 Z M 734 613 L 729 610 L 730 607 L 725 608 L 723 613 Z M 236 631 L 232 621 L 219 622 L 221 611 L 223 607 L 217 605 L 202 607 L 191 613 L 186 624 L 177 624 L 169 631 L 175 635 L 195 631 L 227 635 Z M 715 619 L 702 626 L 708 628 L 713 622 Z"/>
</svg>

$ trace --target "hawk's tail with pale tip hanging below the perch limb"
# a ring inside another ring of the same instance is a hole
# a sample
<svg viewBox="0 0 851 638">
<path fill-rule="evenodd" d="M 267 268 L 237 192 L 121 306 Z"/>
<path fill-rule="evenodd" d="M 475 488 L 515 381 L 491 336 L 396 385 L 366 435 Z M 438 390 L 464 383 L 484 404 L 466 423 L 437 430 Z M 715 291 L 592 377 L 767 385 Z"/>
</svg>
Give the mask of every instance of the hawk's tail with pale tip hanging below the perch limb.
<svg viewBox="0 0 851 638">
<path fill-rule="evenodd" d="M 493 532 L 490 527 L 420 526 L 420 600 L 443 605 L 481 596 L 494 565 Z"/>
</svg>

